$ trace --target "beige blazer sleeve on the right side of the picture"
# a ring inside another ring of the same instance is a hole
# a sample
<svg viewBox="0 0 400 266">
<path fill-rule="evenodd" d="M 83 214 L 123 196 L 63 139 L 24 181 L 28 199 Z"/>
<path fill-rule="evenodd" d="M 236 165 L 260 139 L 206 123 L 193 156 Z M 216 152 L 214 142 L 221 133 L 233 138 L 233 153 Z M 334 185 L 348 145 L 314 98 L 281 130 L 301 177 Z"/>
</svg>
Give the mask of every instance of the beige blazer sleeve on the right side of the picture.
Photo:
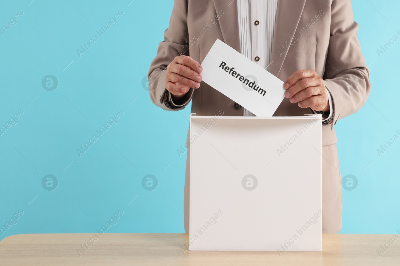
<svg viewBox="0 0 400 266">
<path fill-rule="evenodd" d="M 357 38 L 350 0 L 331 4 L 331 25 L 324 83 L 332 95 L 334 118 L 344 118 L 360 110 L 371 90 L 369 70 Z"/>
</svg>

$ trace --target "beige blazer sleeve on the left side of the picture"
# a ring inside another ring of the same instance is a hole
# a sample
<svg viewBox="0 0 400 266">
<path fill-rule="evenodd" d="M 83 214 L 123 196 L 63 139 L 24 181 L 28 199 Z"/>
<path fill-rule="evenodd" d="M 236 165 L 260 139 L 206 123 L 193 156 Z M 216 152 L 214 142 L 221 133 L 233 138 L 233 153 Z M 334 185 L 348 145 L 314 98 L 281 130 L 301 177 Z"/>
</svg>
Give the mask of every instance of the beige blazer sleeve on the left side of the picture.
<svg viewBox="0 0 400 266">
<path fill-rule="evenodd" d="M 194 89 L 190 88 L 180 102 L 173 102 L 170 92 L 165 88 L 167 66 L 176 56 L 189 54 L 188 3 L 175 0 L 168 28 L 164 32 L 164 41 L 158 45 L 156 57 L 148 72 L 150 99 L 164 110 L 181 110 L 190 102 Z"/>
</svg>

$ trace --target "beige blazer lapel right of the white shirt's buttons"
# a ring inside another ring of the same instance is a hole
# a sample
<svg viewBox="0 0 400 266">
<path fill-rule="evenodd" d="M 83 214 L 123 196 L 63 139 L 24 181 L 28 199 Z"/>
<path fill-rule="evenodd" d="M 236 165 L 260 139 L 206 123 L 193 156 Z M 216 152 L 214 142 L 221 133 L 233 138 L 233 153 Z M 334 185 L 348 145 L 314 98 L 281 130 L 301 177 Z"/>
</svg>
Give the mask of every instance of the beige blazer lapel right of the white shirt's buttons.
<svg viewBox="0 0 400 266">
<path fill-rule="evenodd" d="M 306 0 L 278 0 L 269 71 L 276 77 L 278 77 L 288 54 L 287 51 L 296 32 L 305 3 Z"/>
</svg>

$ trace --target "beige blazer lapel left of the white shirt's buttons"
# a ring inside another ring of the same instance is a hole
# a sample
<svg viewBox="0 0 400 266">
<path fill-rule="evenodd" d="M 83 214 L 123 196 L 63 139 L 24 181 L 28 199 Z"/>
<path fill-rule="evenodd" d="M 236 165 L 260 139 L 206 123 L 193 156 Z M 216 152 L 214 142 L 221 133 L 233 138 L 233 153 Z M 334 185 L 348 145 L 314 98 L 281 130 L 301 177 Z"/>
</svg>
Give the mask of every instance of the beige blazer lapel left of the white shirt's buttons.
<svg viewBox="0 0 400 266">
<path fill-rule="evenodd" d="M 232 0 L 214 0 L 216 14 L 220 10 L 224 15 L 218 20 L 222 32 L 221 41 L 240 53 L 238 3 Z"/>
</svg>

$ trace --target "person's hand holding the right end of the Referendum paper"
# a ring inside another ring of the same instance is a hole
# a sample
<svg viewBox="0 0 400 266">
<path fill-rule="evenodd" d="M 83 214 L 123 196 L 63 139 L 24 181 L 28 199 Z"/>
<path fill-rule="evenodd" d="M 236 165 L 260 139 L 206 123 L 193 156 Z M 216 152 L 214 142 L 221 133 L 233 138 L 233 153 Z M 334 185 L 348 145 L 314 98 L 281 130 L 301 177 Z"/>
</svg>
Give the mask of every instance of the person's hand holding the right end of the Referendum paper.
<svg viewBox="0 0 400 266">
<path fill-rule="evenodd" d="M 315 71 L 298 70 L 288 77 L 283 86 L 285 97 L 290 98 L 292 103 L 298 102 L 299 107 L 323 112 L 330 110 L 324 80 Z"/>
</svg>

